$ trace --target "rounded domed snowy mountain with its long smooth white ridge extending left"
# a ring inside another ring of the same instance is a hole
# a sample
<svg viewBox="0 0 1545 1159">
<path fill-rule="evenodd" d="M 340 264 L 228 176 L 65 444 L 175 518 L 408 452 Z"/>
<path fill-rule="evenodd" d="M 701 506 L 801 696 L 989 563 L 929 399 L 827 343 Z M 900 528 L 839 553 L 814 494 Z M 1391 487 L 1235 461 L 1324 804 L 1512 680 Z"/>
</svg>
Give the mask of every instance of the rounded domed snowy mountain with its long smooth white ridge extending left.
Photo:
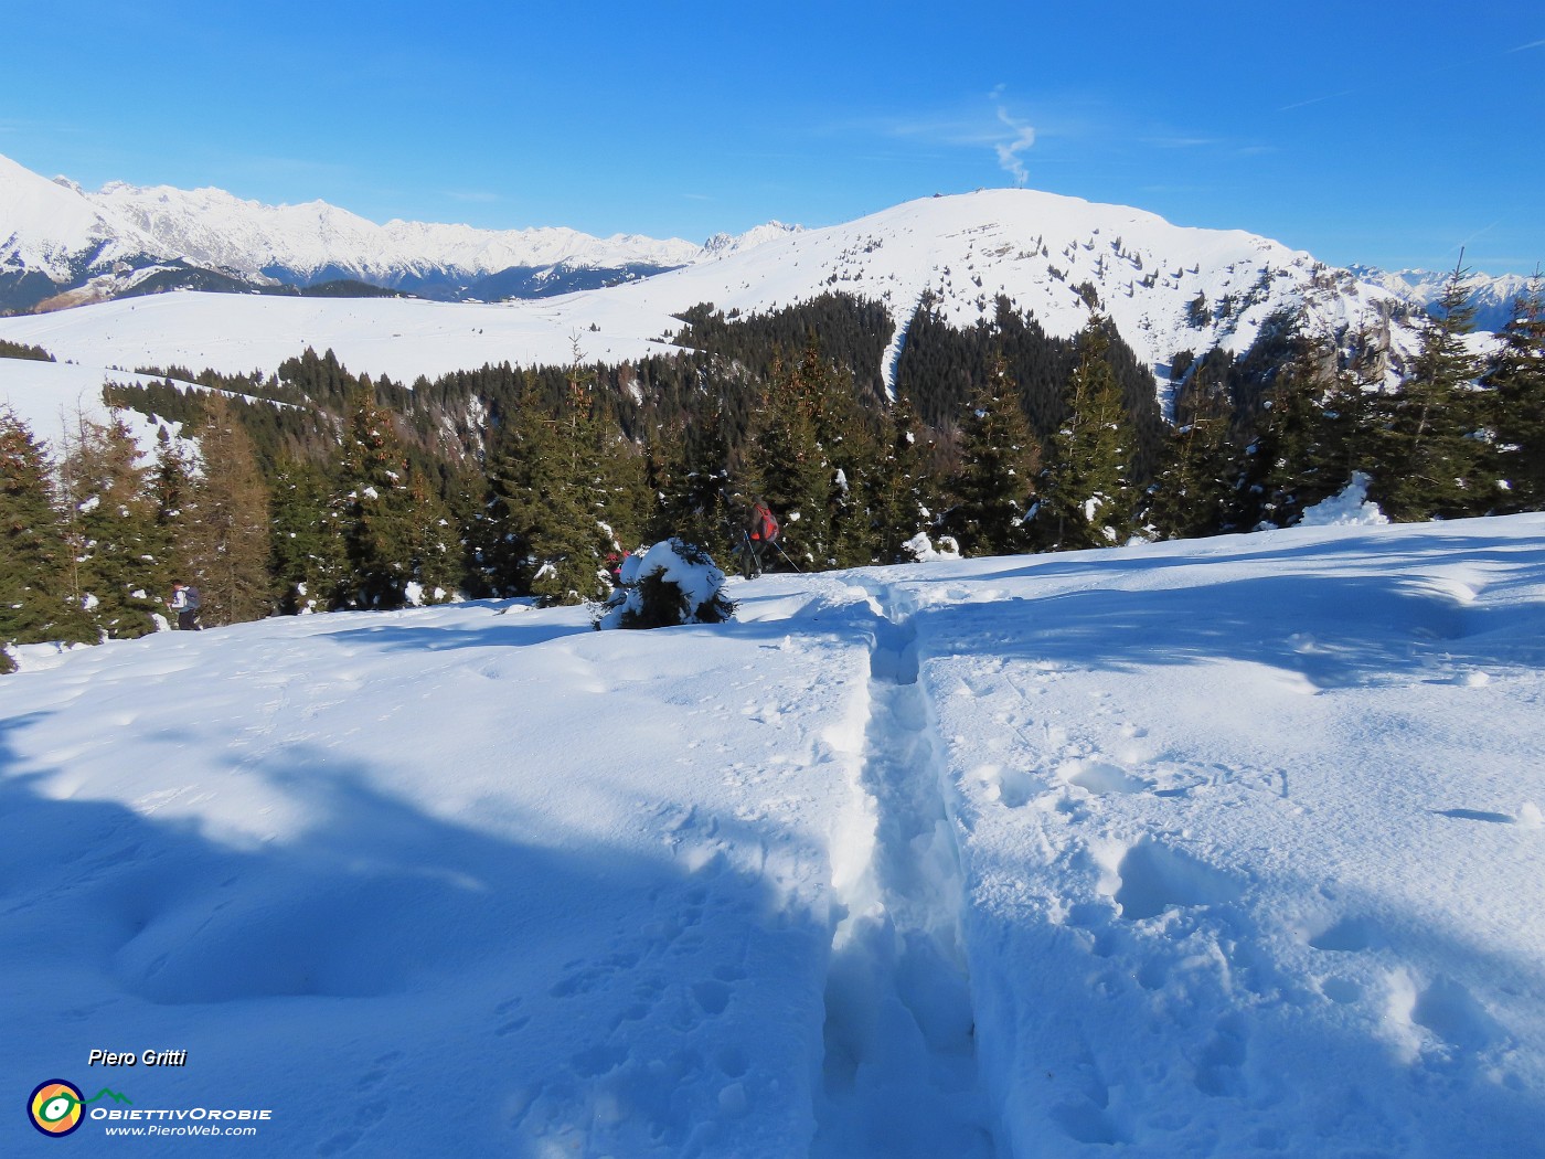
<svg viewBox="0 0 1545 1159">
<path fill-rule="evenodd" d="M 956 326 L 995 317 L 998 295 L 1068 337 L 1109 314 L 1139 359 L 1168 383 L 1182 351 L 1244 351 L 1273 312 L 1304 306 L 1336 331 L 1367 325 L 1404 342 L 1398 298 L 1307 253 L 1239 230 L 1173 226 L 1153 213 L 1034 190 L 912 201 L 844 226 L 759 233 L 759 244 L 652 278 L 502 304 L 400 300 L 273 300 L 170 294 L 0 318 L 0 337 L 82 365 L 272 369 L 306 346 L 355 374 L 400 382 L 485 363 L 627 362 L 669 352 L 680 315 L 712 303 L 769 312 L 828 291 L 881 301 L 898 329 L 929 301 Z"/>
</svg>

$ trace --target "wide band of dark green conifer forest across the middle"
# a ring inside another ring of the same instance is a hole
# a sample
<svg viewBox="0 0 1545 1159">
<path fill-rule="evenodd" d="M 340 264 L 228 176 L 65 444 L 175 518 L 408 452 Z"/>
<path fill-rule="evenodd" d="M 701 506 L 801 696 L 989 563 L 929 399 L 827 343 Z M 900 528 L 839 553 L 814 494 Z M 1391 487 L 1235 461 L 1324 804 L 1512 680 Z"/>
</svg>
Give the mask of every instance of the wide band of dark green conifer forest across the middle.
<svg viewBox="0 0 1545 1159">
<path fill-rule="evenodd" d="M 1289 527 L 1355 473 L 1397 521 L 1539 510 L 1540 280 L 1489 357 L 1465 301 L 1455 270 L 1406 365 L 1275 317 L 1238 359 L 1177 357 L 1168 417 L 1098 312 L 1052 338 L 1007 300 L 970 329 L 924 300 L 893 399 L 895 320 L 840 294 L 745 318 L 703 304 L 681 352 L 615 366 L 576 335 L 565 366 L 414 383 L 311 349 L 249 376 L 144 368 L 165 380 L 107 402 L 162 420 L 151 456 L 80 419 L 49 457 L 0 410 L 0 644 L 144 635 L 175 580 L 210 626 L 592 601 L 623 553 L 671 535 L 728 570 L 757 498 L 802 570 L 905 563 L 919 535 L 970 556 Z"/>
</svg>

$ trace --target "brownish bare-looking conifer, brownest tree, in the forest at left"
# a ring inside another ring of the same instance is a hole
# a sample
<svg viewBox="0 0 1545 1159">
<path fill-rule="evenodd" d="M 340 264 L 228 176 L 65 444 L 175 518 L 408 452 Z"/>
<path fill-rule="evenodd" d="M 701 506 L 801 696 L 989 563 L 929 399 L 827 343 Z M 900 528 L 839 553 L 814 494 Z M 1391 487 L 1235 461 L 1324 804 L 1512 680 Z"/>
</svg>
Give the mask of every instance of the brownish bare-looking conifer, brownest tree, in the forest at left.
<svg viewBox="0 0 1545 1159">
<path fill-rule="evenodd" d="M 202 471 L 188 488 L 176 555 L 199 589 L 205 624 L 258 620 L 273 609 L 267 487 L 224 394 L 204 397 L 196 437 Z"/>
</svg>

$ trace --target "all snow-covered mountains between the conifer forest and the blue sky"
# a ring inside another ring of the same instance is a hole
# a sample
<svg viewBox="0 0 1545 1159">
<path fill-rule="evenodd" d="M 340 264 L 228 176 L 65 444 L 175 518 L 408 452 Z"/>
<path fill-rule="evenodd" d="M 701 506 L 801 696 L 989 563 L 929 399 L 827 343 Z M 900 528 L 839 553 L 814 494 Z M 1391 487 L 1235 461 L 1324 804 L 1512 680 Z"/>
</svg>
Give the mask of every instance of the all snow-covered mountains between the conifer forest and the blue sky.
<svg viewBox="0 0 1545 1159">
<path fill-rule="evenodd" d="M 405 382 L 488 362 L 564 363 L 576 349 L 615 363 L 667 352 L 681 315 L 701 303 L 734 317 L 844 292 L 890 314 L 887 380 L 919 309 L 969 328 L 990 321 L 1004 297 L 1054 337 L 1078 331 L 1091 309 L 1108 314 L 1163 393 L 1177 355 L 1244 352 L 1281 312 L 1326 332 L 1370 329 L 1398 363 L 1412 348 L 1411 318 L 1440 280 L 1329 267 L 1242 230 L 1023 189 L 925 198 L 825 229 L 771 223 L 697 246 L 565 229 L 377 226 L 323 202 L 272 207 L 219 190 L 87 193 L 0 158 L 0 300 L 15 312 L 107 303 L 68 318 L 12 317 L 0 337 L 97 366 L 244 372 L 304 346 Z M 1499 326 L 1520 280 L 1474 284 L 1485 325 Z M 178 287 L 244 292 L 142 297 Z M 541 301 L 447 314 L 426 301 L 281 309 L 275 297 L 402 292 Z M 108 303 L 130 295 L 141 295 L 138 311 Z"/>
</svg>

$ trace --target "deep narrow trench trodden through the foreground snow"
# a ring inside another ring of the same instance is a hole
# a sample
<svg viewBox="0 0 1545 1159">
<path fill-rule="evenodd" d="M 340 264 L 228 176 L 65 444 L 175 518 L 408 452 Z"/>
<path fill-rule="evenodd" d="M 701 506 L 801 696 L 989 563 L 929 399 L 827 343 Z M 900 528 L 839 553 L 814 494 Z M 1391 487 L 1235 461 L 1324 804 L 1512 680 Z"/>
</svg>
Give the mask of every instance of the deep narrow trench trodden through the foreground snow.
<svg viewBox="0 0 1545 1159">
<path fill-rule="evenodd" d="M 839 893 L 811 1156 L 992 1159 L 995 1113 L 976 1066 L 961 941 L 964 882 L 939 783 L 916 632 L 871 590 L 868 722 L 859 788 L 868 861 Z"/>
</svg>

